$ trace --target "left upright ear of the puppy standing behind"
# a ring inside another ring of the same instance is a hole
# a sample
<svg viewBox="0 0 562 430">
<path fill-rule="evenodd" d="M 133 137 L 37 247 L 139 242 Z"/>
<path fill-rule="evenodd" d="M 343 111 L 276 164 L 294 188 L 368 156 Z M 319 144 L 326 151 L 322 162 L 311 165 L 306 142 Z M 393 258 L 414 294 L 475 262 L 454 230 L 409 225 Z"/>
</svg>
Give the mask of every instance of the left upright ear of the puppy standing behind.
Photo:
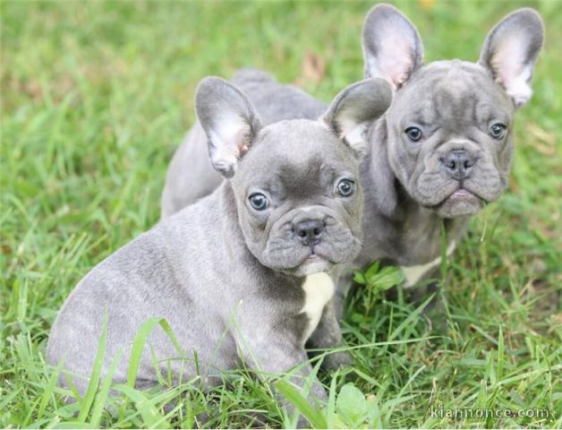
<svg viewBox="0 0 562 430">
<path fill-rule="evenodd" d="M 423 63 L 418 30 L 389 4 L 378 4 L 367 14 L 362 44 L 365 77 L 386 79 L 395 89 Z"/>
</svg>

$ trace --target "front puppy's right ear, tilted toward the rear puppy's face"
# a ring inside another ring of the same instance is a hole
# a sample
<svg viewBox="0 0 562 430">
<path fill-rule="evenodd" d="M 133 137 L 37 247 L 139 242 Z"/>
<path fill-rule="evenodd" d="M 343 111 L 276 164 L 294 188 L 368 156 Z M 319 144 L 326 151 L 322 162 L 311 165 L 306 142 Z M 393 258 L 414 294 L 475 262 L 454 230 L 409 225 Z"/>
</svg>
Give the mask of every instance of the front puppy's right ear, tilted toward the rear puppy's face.
<svg viewBox="0 0 562 430">
<path fill-rule="evenodd" d="M 341 91 L 320 118 L 361 158 L 367 152 L 367 131 L 392 101 L 390 85 L 383 79 L 365 79 Z"/>
</svg>

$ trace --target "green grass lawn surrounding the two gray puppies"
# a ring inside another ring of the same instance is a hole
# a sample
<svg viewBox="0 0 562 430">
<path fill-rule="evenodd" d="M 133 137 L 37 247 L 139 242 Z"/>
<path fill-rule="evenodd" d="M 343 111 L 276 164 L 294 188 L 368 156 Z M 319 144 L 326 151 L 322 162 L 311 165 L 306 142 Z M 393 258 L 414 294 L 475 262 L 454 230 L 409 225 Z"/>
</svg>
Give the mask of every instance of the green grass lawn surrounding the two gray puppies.
<svg viewBox="0 0 562 430">
<path fill-rule="evenodd" d="M 473 220 L 449 262 L 443 323 L 376 290 L 350 297 L 354 364 L 320 373 L 330 401 L 308 411 L 319 426 L 562 426 L 562 14 L 558 2 L 526 4 L 545 18 L 547 44 L 517 116 L 510 189 Z M 399 4 L 428 60 L 476 59 L 485 32 L 518 5 Z M 156 391 L 114 387 L 117 395 L 102 380 L 88 400 L 65 406 L 44 360 L 47 335 L 81 277 L 158 219 L 197 82 L 253 65 L 328 100 L 362 78 L 371 3 L 0 6 L 0 427 L 190 427 L 201 413 L 206 426 L 248 425 L 256 413 L 291 426 L 270 386 L 244 370 L 210 392 L 162 381 Z M 323 75 L 303 71 L 308 52 L 325 62 Z M 553 415 L 452 419 L 431 417 L 432 407 Z"/>
</svg>

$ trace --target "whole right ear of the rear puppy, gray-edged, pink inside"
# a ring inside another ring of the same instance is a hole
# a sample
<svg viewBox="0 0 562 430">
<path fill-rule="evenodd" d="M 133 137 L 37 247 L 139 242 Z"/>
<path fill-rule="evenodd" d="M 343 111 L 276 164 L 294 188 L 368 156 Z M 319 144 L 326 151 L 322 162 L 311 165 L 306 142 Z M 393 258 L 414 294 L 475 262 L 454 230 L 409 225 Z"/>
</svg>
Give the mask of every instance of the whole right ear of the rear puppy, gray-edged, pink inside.
<svg viewBox="0 0 562 430">
<path fill-rule="evenodd" d="M 524 8 L 507 15 L 484 42 L 479 63 L 490 69 L 515 107 L 523 106 L 531 98 L 532 67 L 543 39 L 541 16 Z"/>
</svg>

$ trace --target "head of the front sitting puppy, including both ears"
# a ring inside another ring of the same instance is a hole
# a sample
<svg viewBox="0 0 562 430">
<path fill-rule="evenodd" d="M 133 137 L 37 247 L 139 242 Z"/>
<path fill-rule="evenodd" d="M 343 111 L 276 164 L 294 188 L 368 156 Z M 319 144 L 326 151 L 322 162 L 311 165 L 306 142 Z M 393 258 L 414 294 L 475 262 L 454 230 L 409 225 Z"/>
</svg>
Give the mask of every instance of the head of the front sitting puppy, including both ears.
<svg viewBox="0 0 562 430">
<path fill-rule="evenodd" d="M 246 245 L 262 264 L 304 276 L 359 253 L 359 162 L 391 95 L 387 82 L 365 80 L 317 121 L 262 127 L 240 90 L 215 77 L 200 82 L 196 107 L 211 164 L 230 179 Z"/>
</svg>

